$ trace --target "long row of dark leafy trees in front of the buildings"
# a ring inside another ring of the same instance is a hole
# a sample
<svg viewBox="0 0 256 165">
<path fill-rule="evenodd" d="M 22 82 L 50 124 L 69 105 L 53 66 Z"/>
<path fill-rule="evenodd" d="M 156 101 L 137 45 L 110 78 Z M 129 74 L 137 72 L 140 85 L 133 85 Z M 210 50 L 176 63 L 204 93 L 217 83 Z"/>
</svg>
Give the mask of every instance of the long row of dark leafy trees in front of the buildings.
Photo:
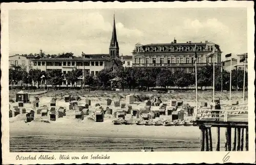
<svg viewBox="0 0 256 165">
<path fill-rule="evenodd" d="M 44 76 L 43 76 L 44 75 Z M 34 82 L 41 82 L 47 80 L 50 84 L 57 87 L 61 85 L 63 80 L 72 85 L 75 85 L 79 81 L 79 77 L 82 76 L 82 70 L 76 69 L 63 75 L 59 70 L 52 70 L 49 73 L 41 71 L 39 69 L 29 70 L 29 73 L 20 69 L 9 70 L 9 83 L 11 81 L 17 83 L 22 80 L 24 84 L 32 84 Z M 244 71 L 232 70 L 232 87 L 243 88 L 244 83 Z M 221 72 L 220 67 L 215 69 L 215 89 L 221 90 L 221 84 L 223 82 L 223 90 L 229 89 L 230 73 L 226 70 Z M 102 86 L 102 87 L 118 87 L 121 89 L 129 88 L 135 89 L 137 87 L 146 87 L 148 90 L 150 87 L 172 87 L 177 86 L 184 88 L 195 85 L 195 73 L 187 73 L 185 70 L 178 69 L 175 73 L 166 68 L 136 68 L 136 67 L 117 67 L 113 71 L 113 68 L 105 68 L 101 70 L 98 75 L 87 75 L 81 82 L 83 85 L 90 86 Z M 222 81 L 221 81 L 222 80 Z M 197 71 L 198 86 L 208 87 L 212 86 L 213 82 L 213 67 L 212 65 L 206 65 Z M 247 74 L 245 79 L 245 86 L 247 88 Z"/>
</svg>

